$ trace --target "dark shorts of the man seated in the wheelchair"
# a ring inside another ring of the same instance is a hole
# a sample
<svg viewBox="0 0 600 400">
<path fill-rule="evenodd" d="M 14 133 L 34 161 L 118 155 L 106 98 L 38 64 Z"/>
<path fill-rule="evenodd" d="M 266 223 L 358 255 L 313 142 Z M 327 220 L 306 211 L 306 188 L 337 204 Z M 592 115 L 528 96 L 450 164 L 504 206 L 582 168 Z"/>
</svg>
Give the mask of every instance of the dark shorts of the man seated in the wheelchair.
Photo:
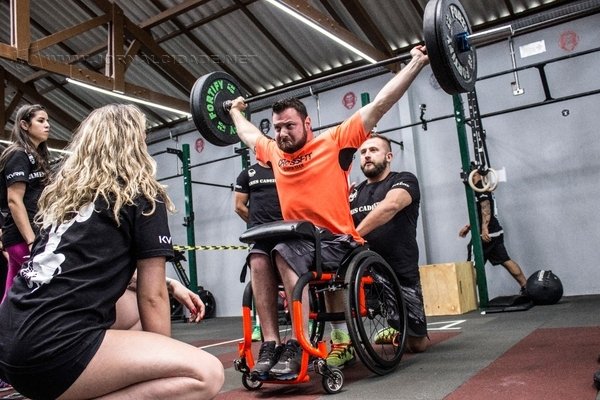
<svg viewBox="0 0 600 400">
<path fill-rule="evenodd" d="M 359 244 L 351 235 L 331 235 L 321 240 L 321 256 L 323 270 L 331 271 L 337 268 L 344 257 Z M 278 243 L 272 254 L 278 252 L 292 269 L 301 276 L 314 270 L 315 244 L 310 240 L 297 239 Z"/>
</svg>

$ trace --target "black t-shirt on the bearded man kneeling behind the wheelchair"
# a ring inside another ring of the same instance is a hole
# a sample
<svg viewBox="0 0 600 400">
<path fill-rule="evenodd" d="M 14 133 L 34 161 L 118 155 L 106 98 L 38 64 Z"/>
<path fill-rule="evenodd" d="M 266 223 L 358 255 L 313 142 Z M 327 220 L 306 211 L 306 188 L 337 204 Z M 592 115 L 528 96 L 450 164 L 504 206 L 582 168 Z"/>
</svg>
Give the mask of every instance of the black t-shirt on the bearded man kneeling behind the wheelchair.
<svg viewBox="0 0 600 400">
<path fill-rule="evenodd" d="M 412 203 L 386 224 L 365 235 L 369 247 L 383 257 L 398 273 L 401 283 L 413 283 L 419 277 L 419 247 L 417 245 L 417 219 L 421 195 L 417 177 L 410 172 L 390 172 L 380 182 L 361 182 L 350 195 L 350 212 L 354 225 L 377 207 L 390 190 L 404 189 Z"/>
</svg>

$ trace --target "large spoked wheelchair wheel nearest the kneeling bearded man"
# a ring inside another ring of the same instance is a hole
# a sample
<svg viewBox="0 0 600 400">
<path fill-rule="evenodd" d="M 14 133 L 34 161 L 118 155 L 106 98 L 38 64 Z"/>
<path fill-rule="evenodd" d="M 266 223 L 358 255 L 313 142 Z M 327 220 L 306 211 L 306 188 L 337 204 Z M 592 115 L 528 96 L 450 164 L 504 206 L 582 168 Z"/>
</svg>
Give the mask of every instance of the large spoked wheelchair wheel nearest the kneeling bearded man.
<svg viewBox="0 0 600 400">
<path fill-rule="evenodd" d="M 345 275 L 346 323 L 358 356 L 378 375 L 394 370 L 402 358 L 406 338 L 406 306 L 392 268 L 377 253 L 356 255 Z M 398 331 L 394 343 L 376 344 L 378 332 L 388 327 Z"/>
</svg>

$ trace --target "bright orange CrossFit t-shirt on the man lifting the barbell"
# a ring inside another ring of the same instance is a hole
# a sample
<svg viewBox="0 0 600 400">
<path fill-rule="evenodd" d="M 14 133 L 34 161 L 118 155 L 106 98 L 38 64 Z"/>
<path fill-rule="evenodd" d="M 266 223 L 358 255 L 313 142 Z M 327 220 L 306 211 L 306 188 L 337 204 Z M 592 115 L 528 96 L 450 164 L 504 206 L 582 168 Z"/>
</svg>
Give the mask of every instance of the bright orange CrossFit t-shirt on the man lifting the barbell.
<svg viewBox="0 0 600 400">
<path fill-rule="evenodd" d="M 350 215 L 348 174 L 352 156 L 368 138 L 359 113 L 330 128 L 293 154 L 261 136 L 256 158 L 270 162 L 285 220 L 306 220 L 363 243 Z"/>
</svg>

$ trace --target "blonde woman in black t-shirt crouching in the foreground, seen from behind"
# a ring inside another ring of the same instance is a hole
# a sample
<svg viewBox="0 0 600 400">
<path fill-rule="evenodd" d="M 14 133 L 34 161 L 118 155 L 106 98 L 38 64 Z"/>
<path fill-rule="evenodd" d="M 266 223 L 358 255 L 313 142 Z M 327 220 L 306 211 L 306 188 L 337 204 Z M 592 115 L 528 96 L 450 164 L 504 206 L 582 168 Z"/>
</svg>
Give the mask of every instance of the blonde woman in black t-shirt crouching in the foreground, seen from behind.
<svg viewBox="0 0 600 400">
<path fill-rule="evenodd" d="M 145 124 L 135 106 L 94 110 L 42 193 L 40 235 L 0 306 L 0 378 L 27 397 L 209 399 L 223 384 L 217 358 L 170 338 L 173 205 Z M 115 329 L 136 269 L 142 331 Z"/>
</svg>

